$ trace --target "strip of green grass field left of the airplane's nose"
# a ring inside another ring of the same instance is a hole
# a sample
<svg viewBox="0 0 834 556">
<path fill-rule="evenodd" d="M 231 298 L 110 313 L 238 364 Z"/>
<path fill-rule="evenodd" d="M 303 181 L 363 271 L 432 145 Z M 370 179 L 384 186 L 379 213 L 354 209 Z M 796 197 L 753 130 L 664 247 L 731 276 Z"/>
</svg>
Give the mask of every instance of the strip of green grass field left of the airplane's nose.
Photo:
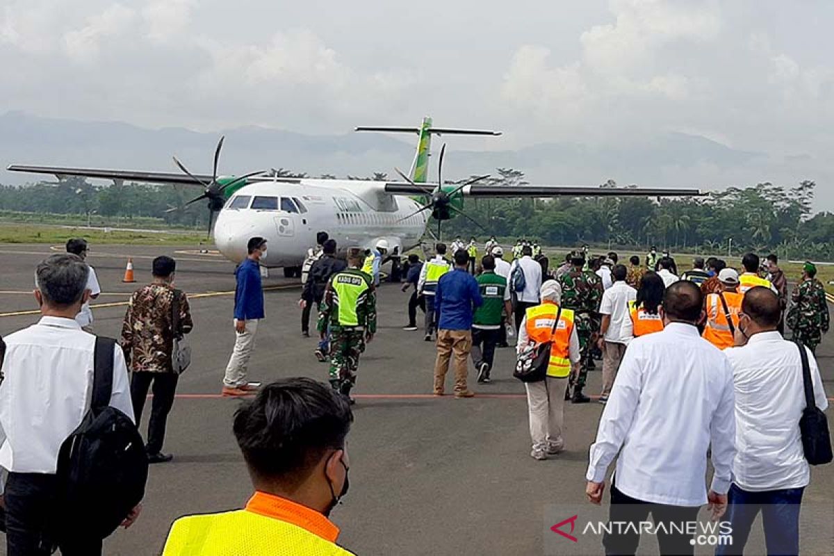
<svg viewBox="0 0 834 556">
<path fill-rule="evenodd" d="M 211 243 L 205 233 L 143 232 L 115 228 L 84 228 L 0 222 L 0 243 L 65 243 L 70 238 L 84 238 L 97 245 L 189 245 Z"/>
</svg>

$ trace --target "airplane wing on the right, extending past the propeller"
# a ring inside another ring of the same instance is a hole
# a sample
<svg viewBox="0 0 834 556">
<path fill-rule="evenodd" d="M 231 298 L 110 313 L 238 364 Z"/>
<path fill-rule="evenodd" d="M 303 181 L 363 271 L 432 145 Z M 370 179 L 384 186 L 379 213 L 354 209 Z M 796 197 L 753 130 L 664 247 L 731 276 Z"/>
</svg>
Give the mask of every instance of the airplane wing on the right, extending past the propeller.
<svg viewBox="0 0 834 556">
<path fill-rule="evenodd" d="M 446 187 L 454 184 L 447 184 Z M 425 187 L 420 187 L 425 186 Z M 436 183 L 388 182 L 385 193 L 394 195 L 425 195 L 437 188 Z M 700 189 L 691 188 L 583 188 L 555 185 L 487 185 L 473 183 L 461 190 L 465 197 L 482 198 L 545 198 L 545 197 L 699 197 Z"/>
</svg>

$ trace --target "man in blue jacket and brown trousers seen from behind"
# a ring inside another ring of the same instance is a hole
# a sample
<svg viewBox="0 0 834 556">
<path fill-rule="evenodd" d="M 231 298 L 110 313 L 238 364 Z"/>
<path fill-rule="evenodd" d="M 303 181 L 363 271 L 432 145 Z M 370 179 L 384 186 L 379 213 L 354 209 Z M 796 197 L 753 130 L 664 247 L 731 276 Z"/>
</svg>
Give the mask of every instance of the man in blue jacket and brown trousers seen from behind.
<svg viewBox="0 0 834 556">
<path fill-rule="evenodd" d="M 472 317 L 483 303 L 478 282 L 466 272 L 469 253 L 455 253 L 455 270 L 446 273 L 437 284 L 435 303 L 440 313 L 437 332 L 437 360 L 435 361 L 435 396 L 445 393 L 449 362 L 455 357 L 455 398 L 475 395 L 466 383 L 472 348 Z"/>
</svg>

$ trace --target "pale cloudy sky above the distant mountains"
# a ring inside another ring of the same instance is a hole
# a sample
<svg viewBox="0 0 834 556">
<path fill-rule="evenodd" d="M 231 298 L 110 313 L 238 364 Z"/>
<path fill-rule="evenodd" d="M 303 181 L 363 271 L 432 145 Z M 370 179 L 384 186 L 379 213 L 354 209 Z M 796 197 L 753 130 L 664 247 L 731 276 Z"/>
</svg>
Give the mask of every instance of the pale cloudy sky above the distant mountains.
<svg viewBox="0 0 834 556">
<path fill-rule="evenodd" d="M 830 0 L 3 0 L 0 107 L 302 133 L 428 113 L 505 132 L 484 148 L 683 132 L 822 167 L 831 21 Z"/>
</svg>

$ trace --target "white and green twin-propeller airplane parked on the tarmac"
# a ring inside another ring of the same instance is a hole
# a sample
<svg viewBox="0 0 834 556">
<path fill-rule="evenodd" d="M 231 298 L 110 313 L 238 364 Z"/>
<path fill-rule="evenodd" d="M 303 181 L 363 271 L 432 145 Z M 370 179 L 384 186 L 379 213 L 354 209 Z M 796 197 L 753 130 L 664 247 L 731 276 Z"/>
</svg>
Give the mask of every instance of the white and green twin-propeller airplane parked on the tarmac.
<svg viewBox="0 0 834 556">
<path fill-rule="evenodd" d="M 576 188 L 548 185 L 490 185 L 479 183 L 489 176 L 465 183 L 445 183 L 442 178 L 444 148 L 440 150 L 438 180 L 428 181 L 431 138 L 435 135 L 497 136 L 500 132 L 474 129 L 435 128 L 431 118 L 417 128 L 369 127 L 355 131 L 415 133 L 418 136 L 409 174 L 397 172 L 403 181 L 348 179 L 279 178 L 265 171 L 242 176 L 218 176 L 217 168 L 224 138 L 214 153 L 212 175 L 193 174 L 174 162 L 182 173 L 61 168 L 11 164 L 10 172 L 51 174 L 59 180 L 70 176 L 124 182 L 201 185 L 203 194 L 187 204 L 208 200 L 209 233 L 219 252 L 234 263 L 247 256 L 249 238 L 260 236 L 269 243 L 261 264 L 284 268 L 287 278 L 300 277 L 301 264 L 308 249 L 315 245 L 316 233 L 326 231 L 340 251 L 349 247 L 374 248 L 379 240 L 389 244 L 389 253 L 405 253 L 420 245 L 429 216 L 440 223 L 463 211 L 465 198 L 548 198 L 559 196 L 698 196 L 698 189 L 676 188 Z M 420 200 L 416 200 L 420 199 Z M 215 217 L 216 214 L 216 218 Z M 471 220 L 471 218 L 470 218 Z"/>
</svg>

